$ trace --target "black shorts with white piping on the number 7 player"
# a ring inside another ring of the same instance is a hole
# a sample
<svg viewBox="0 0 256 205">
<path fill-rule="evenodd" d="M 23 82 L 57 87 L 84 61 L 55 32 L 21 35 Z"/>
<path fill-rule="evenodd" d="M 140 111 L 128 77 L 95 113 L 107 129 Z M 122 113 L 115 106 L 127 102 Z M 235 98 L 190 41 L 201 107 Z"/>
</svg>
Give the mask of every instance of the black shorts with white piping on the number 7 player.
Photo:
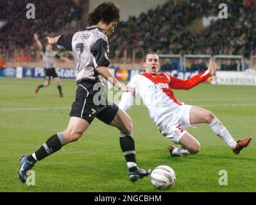
<svg viewBox="0 0 256 205">
<path fill-rule="evenodd" d="M 80 117 L 89 124 L 98 118 L 105 124 L 110 124 L 118 111 L 118 106 L 107 101 L 105 87 L 101 83 L 98 90 L 94 89 L 95 83 L 83 82 L 78 84 L 76 101 L 73 102 L 71 117 Z"/>
</svg>

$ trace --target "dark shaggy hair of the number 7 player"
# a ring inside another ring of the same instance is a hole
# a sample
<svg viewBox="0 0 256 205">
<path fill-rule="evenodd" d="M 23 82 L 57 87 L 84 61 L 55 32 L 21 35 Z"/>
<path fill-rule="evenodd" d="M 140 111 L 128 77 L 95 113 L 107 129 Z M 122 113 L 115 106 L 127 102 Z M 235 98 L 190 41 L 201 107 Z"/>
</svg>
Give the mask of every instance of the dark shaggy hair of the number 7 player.
<svg viewBox="0 0 256 205">
<path fill-rule="evenodd" d="M 89 13 L 88 24 L 93 26 L 98 24 L 100 20 L 103 20 L 106 24 L 116 21 L 117 23 L 121 22 L 120 8 L 117 4 L 112 2 L 104 2 L 99 4 L 97 8 Z"/>
</svg>

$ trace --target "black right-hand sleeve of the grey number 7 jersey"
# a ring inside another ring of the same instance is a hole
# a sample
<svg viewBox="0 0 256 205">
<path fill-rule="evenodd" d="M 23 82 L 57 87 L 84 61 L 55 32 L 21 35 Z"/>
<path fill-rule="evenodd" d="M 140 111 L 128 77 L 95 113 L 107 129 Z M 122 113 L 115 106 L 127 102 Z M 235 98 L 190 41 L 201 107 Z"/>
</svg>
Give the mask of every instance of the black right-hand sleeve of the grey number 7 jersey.
<svg viewBox="0 0 256 205">
<path fill-rule="evenodd" d="M 92 58 L 94 62 L 95 69 L 98 67 L 108 67 L 110 65 L 110 61 L 108 58 L 108 42 L 103 40 L 103 38 L 99 38 L 92 45 L 90 52 L 92 53 Z"/>
</svg>

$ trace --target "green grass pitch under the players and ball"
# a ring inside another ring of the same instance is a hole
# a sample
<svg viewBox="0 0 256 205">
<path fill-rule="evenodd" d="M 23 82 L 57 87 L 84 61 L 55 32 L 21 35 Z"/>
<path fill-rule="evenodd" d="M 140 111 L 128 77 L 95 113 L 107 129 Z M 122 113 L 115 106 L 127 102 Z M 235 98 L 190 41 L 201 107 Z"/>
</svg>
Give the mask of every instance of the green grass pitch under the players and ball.
<svg viewBox="0 0 256 205">
<path fill-rule="evenodd" d="M 94 120 L 83 137 L 35 165 L 35 185 L 18 179 L 19 156 L 31 154 L 49 136 L 63 131 L 74 101 L 74 80 L 62 80 L 66 97 L 58 98 L 51 86 L 34 94 L 43 79 L 0 78 L 0 192 L 163 192 L 146 177 L 130 182 L 119 147 L 119 131 Z M 256 87 L 198 85 L 176 90 L 181 102 L 213 111 L 235 140 L 252 136 L 239 156 L 215 136 L 207 125 L 187 129 L 201 143 L 198 154 L 172 158 L 172 143 L 160 135 L 144 106 L 128 111 L 133 119 L 137 163 L 142 168 L 168 165 L 176 183 L 164 192 L 255 192 L 256 191 Z M 219 185 L 219 171 L 228 173 L 228 185 Z"/>
</svg>

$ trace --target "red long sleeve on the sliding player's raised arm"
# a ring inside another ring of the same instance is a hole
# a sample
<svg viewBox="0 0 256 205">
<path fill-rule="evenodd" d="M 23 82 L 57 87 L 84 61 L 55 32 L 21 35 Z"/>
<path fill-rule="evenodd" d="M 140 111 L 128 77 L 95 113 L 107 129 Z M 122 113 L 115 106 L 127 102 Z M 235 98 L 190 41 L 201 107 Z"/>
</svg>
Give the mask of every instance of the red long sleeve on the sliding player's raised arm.
<svg viewBox="0 0 256 205">
<path fill-rule="evenodd" d="M 171 80 L 170 80 L 169 85 L 171 86 L 171 88 L 176 89 L 176 90 L 189 90 L 189 89 L 193 88 L 194 86 L 207 80 L 210 76 L 211 76 L 211 74 L 208 70 L 205 72 L 202 72 L 192 78 L 189 78 L 185 81 L 183 81 L 182 79 L 178 79 L 173 76 L 170 76 Z"/>
</svg>

